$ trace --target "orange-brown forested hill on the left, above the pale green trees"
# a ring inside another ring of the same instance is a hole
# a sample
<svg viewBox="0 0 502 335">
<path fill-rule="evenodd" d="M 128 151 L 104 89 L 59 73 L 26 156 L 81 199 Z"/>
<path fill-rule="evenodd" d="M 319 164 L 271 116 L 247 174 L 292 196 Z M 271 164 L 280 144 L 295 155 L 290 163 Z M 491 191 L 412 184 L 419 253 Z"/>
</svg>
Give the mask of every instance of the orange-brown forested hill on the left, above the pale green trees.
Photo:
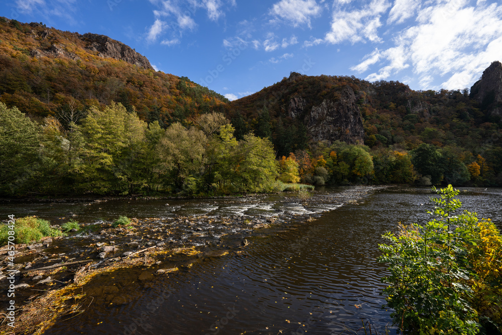
<svg viewBox="0 0 502 335">
<path fill-rule="evenodd" d="M 161 125 L 218 111 L 228 100 L 107 36 L 0 18 L 0 101 L 41 120 L 120 102 Z"/>
</svg>

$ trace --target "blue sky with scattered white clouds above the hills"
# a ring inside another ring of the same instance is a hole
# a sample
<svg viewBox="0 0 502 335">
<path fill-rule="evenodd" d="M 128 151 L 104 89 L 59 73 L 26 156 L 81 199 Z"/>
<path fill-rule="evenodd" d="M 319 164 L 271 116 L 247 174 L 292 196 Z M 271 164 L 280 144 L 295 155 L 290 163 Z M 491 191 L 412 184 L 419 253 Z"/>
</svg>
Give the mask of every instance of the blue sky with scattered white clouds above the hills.
<svg viewBox="0 0 502 335">
<path fill-rule="evenodd" d="M 493 0 L 5 0 L 0 15 L 107 35 L 230 99 L 291 71 L 470 88 L 502 61 Z"/>
</svg>

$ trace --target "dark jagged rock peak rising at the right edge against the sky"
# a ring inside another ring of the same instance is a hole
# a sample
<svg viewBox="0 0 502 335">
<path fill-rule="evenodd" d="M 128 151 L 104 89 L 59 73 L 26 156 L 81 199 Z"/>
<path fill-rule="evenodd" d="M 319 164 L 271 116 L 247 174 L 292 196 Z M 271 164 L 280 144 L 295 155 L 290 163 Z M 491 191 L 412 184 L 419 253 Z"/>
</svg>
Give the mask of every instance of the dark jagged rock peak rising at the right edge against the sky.
<svg viewBox="0 0 502 335">
<path fill-rule="evenodd" d="M 502 63 L 491 63 L 481 79 L 472 85 L 470 94 L 480 103 L 482 110 L 502 117 Z"/>
</svg>

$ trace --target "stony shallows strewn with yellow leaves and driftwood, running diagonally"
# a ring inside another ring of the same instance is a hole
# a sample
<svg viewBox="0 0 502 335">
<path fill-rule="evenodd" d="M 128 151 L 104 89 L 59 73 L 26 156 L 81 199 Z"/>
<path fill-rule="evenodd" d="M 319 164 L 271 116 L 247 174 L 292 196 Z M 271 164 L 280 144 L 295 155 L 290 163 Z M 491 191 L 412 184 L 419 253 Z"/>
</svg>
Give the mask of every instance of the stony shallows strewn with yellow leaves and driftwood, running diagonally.
<svg viewBox="0 0 502 335">
<path fill-rule="evenodd" d="M 214 257 L 245 257 L 248 239 L 315 224 L 312 221 L 323 210 L 356 204 L 376 189 L 379 187 L 360 186 L 339 193 L 314 192 L 301 201 L 285 195 L 282 201 L 288 210 L 269 209 L 267 214 L 256 216 L 174 214 L 133 218 L 127 227 L 113 227 L 108 221 L 89 222 L 68 237 L 17 245 L 15 266 L 9 268 L 16 270 L 18 312 L 14 331 L 34 333 L 35 328 L 44 328 L 63 316 L 71 317 L 91 303 L 130 303 L 134 293 L 124 294 L 124 289 L 135 292 L 135 286 L 153 285 L 156 280 L 190 271 L 198 262 Z M 237 209 L 249 205 L 267 207 L 260 196 L 221 202 Z M 295 211 L 300 206 L 302 211 Z M 0 262 L 7 265 L 6 247 L 0 249 Z M 7 269 L 2 268 L 2 283 L 12 276 Z M 2 300 L 7 301 L 7 297 Z M 0 330 L 12 331 L 6 322 Z"/>
</svg>

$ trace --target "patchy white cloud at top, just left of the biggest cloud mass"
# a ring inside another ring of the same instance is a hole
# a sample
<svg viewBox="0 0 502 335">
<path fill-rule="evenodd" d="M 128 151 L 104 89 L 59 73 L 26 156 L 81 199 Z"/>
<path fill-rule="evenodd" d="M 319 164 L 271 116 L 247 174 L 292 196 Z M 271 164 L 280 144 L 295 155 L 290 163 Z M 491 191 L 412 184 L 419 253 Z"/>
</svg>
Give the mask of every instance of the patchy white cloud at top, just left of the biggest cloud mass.
<svg viewBox="0 0 502 335">
<path fill-rule="evenodd" d="M 331 31 L 325 40 L 331 44 L 369 40 L 380 42 L 377 29 L 382 26 L 381 15 L 389 8 L 387 0 L 372 0 L 367 6 L 350 12 L 336 10 L 331 21 Z"/>
</svg>

